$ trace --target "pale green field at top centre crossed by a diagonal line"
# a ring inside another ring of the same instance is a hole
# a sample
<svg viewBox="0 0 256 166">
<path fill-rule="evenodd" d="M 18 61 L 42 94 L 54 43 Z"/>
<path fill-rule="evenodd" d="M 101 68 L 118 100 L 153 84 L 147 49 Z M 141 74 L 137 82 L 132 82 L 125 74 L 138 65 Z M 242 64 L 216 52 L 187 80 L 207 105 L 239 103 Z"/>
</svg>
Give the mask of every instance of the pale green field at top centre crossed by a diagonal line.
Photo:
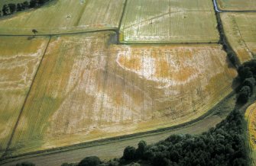
<svg viewBox="0 0 256 166">
<path fill-rule="evenodd" d="M 122 43 L 209 43 L 219 33 L 212 0 L 128 0 Z"/>
</svg>

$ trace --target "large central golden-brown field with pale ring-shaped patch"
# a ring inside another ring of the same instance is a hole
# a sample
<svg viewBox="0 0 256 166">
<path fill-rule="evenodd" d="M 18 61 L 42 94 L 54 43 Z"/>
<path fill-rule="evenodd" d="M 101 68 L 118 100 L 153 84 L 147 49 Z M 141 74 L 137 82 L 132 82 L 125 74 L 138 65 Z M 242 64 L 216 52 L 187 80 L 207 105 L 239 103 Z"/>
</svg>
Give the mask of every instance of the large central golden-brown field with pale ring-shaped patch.
<svg viewBox="0 0 256 166">
<path fill-rule="evenodd" d="M 51 39 L 14 155 L 189 122 L 232 91 L 237 74 L 217 44 L 124 46 L 113 36 Z"/>
</svg>

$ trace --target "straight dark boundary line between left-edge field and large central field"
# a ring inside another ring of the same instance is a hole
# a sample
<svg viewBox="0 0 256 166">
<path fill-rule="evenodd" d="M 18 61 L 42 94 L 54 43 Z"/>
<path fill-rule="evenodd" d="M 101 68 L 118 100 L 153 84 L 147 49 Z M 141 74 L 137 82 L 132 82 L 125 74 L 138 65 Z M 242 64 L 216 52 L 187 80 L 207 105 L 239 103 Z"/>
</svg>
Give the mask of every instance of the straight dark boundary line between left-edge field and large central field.
<svg viewBox="0 0 256 166">
<path fill-rule="evenodd" d="M 28 96 L 29 96 L 29 94 L 30 94 L 30 92 L 31 92 L 31 88 L 32 88 L 32 86 L 33 86 L 33 84 L 34 84 L 34 80 L 35 80 L 35 78 L 36 78 L 36 76 L 37 76 L 37 72 L 38 72 L 39 69 L 41 68 L 41 63 L 43 62 L 44 55 L 45 55 L 45 53 L 47 52 L 47 48 L 48 48 L 48 46 L 49 46 L 49 44 L 50 44 L 50 39 L 51 39 L 51 37 L 49 37 L 49 40 L 47 41 L 47 46 L 46 46 L 45 49 L 44 49 L 43 56 L 41 57 L 41 61 L 39 62 L 39 65 L 38 65 L 38 67 L 37 67 L 37 71 L 36 71 L 35 74 L 34 74 L 34 78 L 33 78 L 32 81 L 31 81 L 31 86 L 30 86 L 29 89 L 28 89 L 28 94 L 26 95 L 25 100 L 24 100 L 24 103 L 23 103 L 23 105 L 22 105 L 22 107 L 21 107 L 20 113 L 19 113 L 19 115 L 18 115 L 18 119 L 17 119 L 17 121 L 16 121 L 16 123 L 15 123 L 15 127 L 14 127 L 14 129 L 12 130 L 12 132 L 11 132 L 11 137 L 10 137 L 10 139 L 9 139 L 9 141 L 8 141 L 7 147 L 5 148 L 5 152 L 4 152 L 4 154 L 1 156 L 1 158 L 5 158 L 5 156 L 8 155 L 8 152 L 11 150 L 11 149 L 10 149 L 11 141 L 12 141 L 12 139 L 13 139 L 13 136 L 15 135 L 15 131 L 16 131 L 17 127 L 18 127 L 18 123 L 19 123 L 19 121 L 20 121 L 20 119 L 21 119 L 21 114 L 22 114 L 22 112 L 23 112 L 23 110 L 24 110 L 25 104 L 27 103 Z M 1 160 L 1 158 L 0 158 L 0 160 Z"/>
</svg>

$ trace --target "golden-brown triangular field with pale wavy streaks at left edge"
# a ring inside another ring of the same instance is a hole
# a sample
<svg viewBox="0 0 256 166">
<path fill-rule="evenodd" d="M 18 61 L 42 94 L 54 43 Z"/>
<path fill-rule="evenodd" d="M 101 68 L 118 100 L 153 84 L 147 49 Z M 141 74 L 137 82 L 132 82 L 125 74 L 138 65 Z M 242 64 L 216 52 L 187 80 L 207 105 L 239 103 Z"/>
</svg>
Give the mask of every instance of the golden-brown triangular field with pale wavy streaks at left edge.
<svg viewBox="0 0 256 166">
<path fill-rule="evenodd" d="M 18 120 L 47 42 L 47 37 L 0 37 L 0 155 Z"/>
</svg>

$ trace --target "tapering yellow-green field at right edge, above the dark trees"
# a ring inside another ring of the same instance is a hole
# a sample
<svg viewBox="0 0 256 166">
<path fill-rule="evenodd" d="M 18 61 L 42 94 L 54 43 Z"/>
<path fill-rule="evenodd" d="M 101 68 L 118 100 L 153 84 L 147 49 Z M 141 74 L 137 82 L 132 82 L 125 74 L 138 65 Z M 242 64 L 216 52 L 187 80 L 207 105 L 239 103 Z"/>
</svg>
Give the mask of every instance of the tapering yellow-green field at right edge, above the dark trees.
<svg viewBox="0 0 256 166">
<path fill-rule="evenodd" d="M 222 23 L 228 42 L 241 62 L 256 55 L 256 13 L 222 13 Z"/>
</svg>

